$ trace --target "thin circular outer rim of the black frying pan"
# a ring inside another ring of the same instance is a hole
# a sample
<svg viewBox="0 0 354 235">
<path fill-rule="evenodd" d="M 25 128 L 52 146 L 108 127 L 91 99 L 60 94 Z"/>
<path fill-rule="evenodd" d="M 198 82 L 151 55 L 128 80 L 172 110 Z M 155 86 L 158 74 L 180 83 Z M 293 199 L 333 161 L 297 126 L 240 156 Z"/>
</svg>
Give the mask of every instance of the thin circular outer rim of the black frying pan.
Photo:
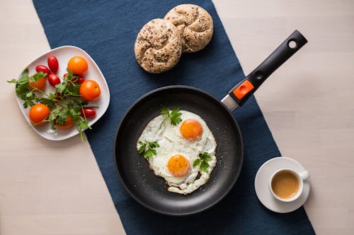
<svg viewBox="0 0 354 235">
<path fill-rule="evenodd" d="M 210 203 L 210 205 L 207 205 L 205 207 L 202 207 L 200 210 L 195 210 L 193 212 L 181 212 L 181 213 L 172 213 L 172 212 L 165 212 L 163 210 L 157 210 L 154 207 L 151 207 L 149 205 L 147 205 L 147 203 L 143 203 L 142 200 L 139 200 L 139 198 L 137 198 L 134 193 L 132 193 L 130 191 L 130 189 L 127 187 L 127 185 L 125 184 L 125 181 L 123 181 L 122 176 L 120 175 L 120 171 L 118 170 L 118 164 L 117 164 L 117 157 L 116 157 L 116 152 L 115 152 L 115 146 L 117 143 L 117 138 L 118 138 L 118 133 L 120 132 L 120 128 L 122 126 L 122 122 L 125 120 L 125 117 L 127 116 L 127 114 L 129 114 L 132 109 L 134 109 L 134 107 L 139 103 L 142 102 L 142 100 L 144 100 L 146 97 L 148 97 L 149 95 L 154 94 L 155 92 L 159 92 L 161 90 L 169 90 L 169 89 L 178 89 L 178 88 L 182 88 L 182 89 L 189 89 L 189 90 L 196 90 L 198 92 L 203 93 L 204 95 L 206 95 L 207 97 L 210 97 L 210 99 L 217 101 L 219 104 L 222 104 L 222 106 L 224 107 L 224 109 L 229 113 L 229 115 L 232 117 L 232 120 L 234 121 L 234 125 L 236 126 L 238 132 L 239 132 L 239 136 L 240 136 L 240 142 L 241 142 L 241 167 L 239 169 L 239 171 L 237 172 L 236 176 L 234 177 L 234 181 L 232 181 L 232 183 L 230 183 L 229 188 L 227 189 L 227 191 L 225 191 L 225 193 L 223 195 L 221 195 L 218 200 L 215 200 L 214 203 Z M 232 115 L 232 112 L 230 112 L 230 110 L 219 100 L 217 100 L 215 97 L 213 97 L 212 95 L 210 95 L 209 93 L 205 92 L 204 90 L 200 90 L 198 88 L 194 88 L 188 85 L 169 85 L 169 86 L 164 86 L 162 88 L 157 88 L 155 90 L 152 90 L 150 92 L 147 92 L 145 95 L 142 95 L 142 97 L 139 97 L 138 100 L 136 100 L 132 105 L 130 105 L 130 107 L 127 109 L 127 112 L 125 112 L 125 114 L 122 116 L 122 119 L 120 119 L 120 123 L 118 124 L 117 127 L 117 131 L 115 132 L 115 138 L 114 138 L 114 144 L 113 144 L 113 160 L 115 163 L 115 170 L 118 173 L 118 177 L 120 179 L 120 182 L 122 183 L 122 185 L 124 186 L 125 190 L 130 194 L 130 196 L 137 201 L 137 203 L 139 203 L 140 205 L 146 207 L 149 210 L 152 210 L 154 212 L 157 212 L 161 215 L 170 215 L 170 216 L 176 216 L 176 217 L 180 217 L 180 216 L 188 216 L 188 215 L 195 215 L 198 214 L 202 211 L 205 211 L 207 209 L 210 209 L 211 207 L 215 206 L 217 203 L 219 203 L 228 193 L 229 191 L 232 190 L 232 188 L 234 188 L 234 185 L 237 181 L 237 179 L 239 179 L 239 175 L 241 174 L 241 170 L 242 170 L 242 166 L 244 164 L 244 141 L 242 138 L 242 134 L 239 128 L 239 124 L 237 123 L 237 121 L 234 119 L 234 116 Z"/>
</svg>

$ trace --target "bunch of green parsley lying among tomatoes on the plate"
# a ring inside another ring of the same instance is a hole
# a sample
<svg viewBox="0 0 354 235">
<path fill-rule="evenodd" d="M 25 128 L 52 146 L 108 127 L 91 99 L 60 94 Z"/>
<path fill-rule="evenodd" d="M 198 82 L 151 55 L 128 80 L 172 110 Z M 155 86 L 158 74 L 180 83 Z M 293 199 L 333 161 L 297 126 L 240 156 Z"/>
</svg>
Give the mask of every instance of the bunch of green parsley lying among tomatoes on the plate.
<svg viewBox="0 0 354 235">
<path fill-rule="evenodd" d="M 50 115 L 44 122 L 49 122 L 52 129 L 56 129 L 55 124 L 64 125 L 67 116 L 74 119 L 74 125 L 81 135 L 81 140 L 84 141 L 83 131 L 89 126 L 86 116 L 81 116 L 80 110 L 84 111 L 84 106 L 87 101 L 81 99 L 79 94 L 80 84 L 75 81 L 78 76 L 74 76 L 72 71 L 67 69 L 68 75 L 64 77 L 62 83 L 55 85 L 55 92 L 44 92 L 38 88 L 30 89 L 28 82 L 32 83 L 40 78 L 47 76 L 47 73 L 35 73 L 33 76 L 28 76 L 28 68 L 26 68 L 18 80 L 8 80 L 8 83 L 15 83 L 16 95 L 23 100 L 23 107 L 26 109 L 34 104 L 45 104 L 50 109 Z M 31 126 L 32 127 L 32 126 Z"/>
</svg>

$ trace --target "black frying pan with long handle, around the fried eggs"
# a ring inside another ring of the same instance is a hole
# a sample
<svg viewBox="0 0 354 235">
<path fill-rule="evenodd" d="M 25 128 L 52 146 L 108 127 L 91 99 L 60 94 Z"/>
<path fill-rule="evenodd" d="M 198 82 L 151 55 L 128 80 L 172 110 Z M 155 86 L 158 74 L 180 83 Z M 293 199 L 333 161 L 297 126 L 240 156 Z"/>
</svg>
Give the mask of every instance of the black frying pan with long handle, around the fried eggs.
<svg viewBox="0 0 354 235">
<path fill-rule="evenodd" d="M 244 104 L 275 69 L 306 43 L 295 30 L 249 76 L 229 90 L 222 102 L 202 90 L 175 85 L 149 92 L 132 104 L 118 126 L 114 144 L 118 175 L 132 198 L 166 215 L 191 215 L 224 198 L 239 177 L 243 162 L 242 137 L 231 112 Z M 147 160 L 137 153 L 137 139 L 147 123 L 160 114 L 162 106 L 180 107 L 198 114 L 217 141 L 217 165 L 210 180 L 188 195 L 167 191 L 164 179 L 155 176 Z"/>
</svg>

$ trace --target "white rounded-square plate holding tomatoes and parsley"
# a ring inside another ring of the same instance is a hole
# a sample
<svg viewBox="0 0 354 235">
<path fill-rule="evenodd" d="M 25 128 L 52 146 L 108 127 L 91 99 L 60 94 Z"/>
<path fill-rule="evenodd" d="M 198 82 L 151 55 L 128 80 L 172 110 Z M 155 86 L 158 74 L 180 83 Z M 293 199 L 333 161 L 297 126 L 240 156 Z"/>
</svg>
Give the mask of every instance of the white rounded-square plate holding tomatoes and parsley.
<svg viewBox="0 0 354 235">
<path fill-rule="evenodd" d="M 69 59 L 71 59 L 73 56 L 81 56 L 84 59 L 86 59 L 87 63 L 89 64 L 89 70 L 84 76 L 85 80 L 95 80 L 101 88 L 100 98 L 93 102 L 89 102 L 88 105 L 88 107 L 98 107 L 96 109 L 96 117 L 93 119 L 88 119 L 89 125 L 92 126 L 93 123 L 96 123 L 96 121 L 100 119 L 101 116 L 103 116 L 110 102 L 110 91 L 108 89 L 107 82 L 105 81 L 105 77 L 103 76 L 100 68 L 98 68 L 96 62 L 93 61 L 91 56 L 89 56 L 89 54 L 87 54 L 83 49 L 74 46 L 63 46 L 63 47 L 57 47 L 55 49 L 50 50 L 49 52 L 38 57 L 38 59 L 35 59 L 27 67 L 25 67 L 28 68 L 29 70 L 28 76 L 32 76 L 33 74 L 37 73 L 35 71 L 36 66 L 40 64 L 47 66 L 47 58 L 49 56 L 57 57 L 59 61 L 59 69 L 57 71 L 57 75 L 61 78 L 61 80 L 64 73 L 67 73 L 67 63 Z M 53 88 L 47 82 L 45 86 L 45 92 L 54 93 L 55 88 Z M 18 106 L 21 109 L 21 112 L 23 113 L 23 116 L 25 116 L 25 119 L 28 121 L 28 124 L 32 125 L 28 117 L 28 112 L 30 107 L 28 107 L 27 109 L 23 108 L 23 100 L 21 100 L 19 97 L 17 97 L 17 102 L 18 102 Z M 79 134 L 79 131 L 75 127 L 69 128 L 67 130 L 61 130 L 61 129 L 52 130 L 52 128 L 50 128 L 50 124 L 45 124 L 43 126 L 34 126 L 33 130 L 37 132 L 40 136 L 48 140 L 65 140 L 67 138 L 71 138 L 74 135 Z"/>
</svg>

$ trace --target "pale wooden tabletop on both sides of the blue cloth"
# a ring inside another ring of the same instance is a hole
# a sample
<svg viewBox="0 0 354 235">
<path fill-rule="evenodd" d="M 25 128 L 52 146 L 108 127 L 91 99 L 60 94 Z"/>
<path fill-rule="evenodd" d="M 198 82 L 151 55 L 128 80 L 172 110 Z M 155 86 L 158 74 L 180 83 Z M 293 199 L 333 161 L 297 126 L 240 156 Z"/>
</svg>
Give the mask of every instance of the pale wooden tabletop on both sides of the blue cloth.
<svg viewBox="0 0 354 235">
<path fill-rule="evenodd" d="M 214 2 L 245 73 L 293 30 L 309 40 L 256 98 L 282 155 L 311 173 L 316 234 L 354 234 L 354 1 Z M 6 83 L 50 49 L 32 1 L 0 1 L 0 28 L 0 234 L 124 234 L 89 143 L 41 138 Z"/>
</svg>

